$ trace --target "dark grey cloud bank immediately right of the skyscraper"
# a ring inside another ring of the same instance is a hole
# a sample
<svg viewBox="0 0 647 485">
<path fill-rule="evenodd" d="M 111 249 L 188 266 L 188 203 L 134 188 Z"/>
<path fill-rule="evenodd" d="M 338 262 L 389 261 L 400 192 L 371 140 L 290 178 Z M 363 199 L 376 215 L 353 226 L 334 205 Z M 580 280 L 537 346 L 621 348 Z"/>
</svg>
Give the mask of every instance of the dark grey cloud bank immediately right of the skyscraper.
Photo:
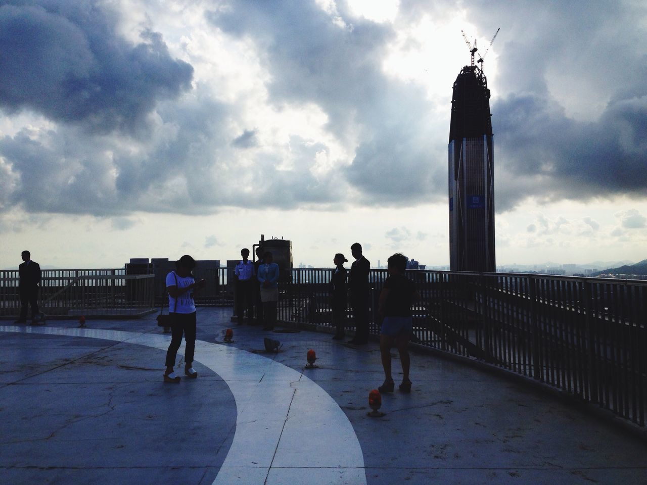
<svg viewBox="0 0 647 485">
<path fill-rule="evenodd" d="M 615 100 L 597 122 L 567 118 L 551 100 L 509 96 L 494 105 L 497 204 L 647 195 L 647 92 Z"/>
</svg>

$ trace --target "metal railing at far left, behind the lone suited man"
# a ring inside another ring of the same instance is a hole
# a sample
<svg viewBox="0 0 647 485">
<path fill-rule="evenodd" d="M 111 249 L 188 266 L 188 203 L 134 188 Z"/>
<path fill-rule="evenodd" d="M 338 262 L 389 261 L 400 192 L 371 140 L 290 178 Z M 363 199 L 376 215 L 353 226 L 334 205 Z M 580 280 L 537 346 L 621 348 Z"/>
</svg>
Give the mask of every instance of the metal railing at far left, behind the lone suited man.
<svg viewBox="0 0 647 485">
<path fill-rule="evenodd" d="M 153 283 L 123 269 L 43 270 L 38 303 L 53 318 L 140 316 L 153 310 Z M 0 316 L 19 312 L 18 271 L 0 271 Z"/>
</svg>

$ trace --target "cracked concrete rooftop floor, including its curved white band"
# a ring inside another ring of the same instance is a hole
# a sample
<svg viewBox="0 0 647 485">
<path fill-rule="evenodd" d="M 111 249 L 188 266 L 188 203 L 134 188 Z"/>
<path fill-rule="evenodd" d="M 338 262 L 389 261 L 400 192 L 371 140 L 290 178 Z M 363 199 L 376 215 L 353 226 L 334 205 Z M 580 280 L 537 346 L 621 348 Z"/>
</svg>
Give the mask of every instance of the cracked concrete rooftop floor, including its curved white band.
<svg viewBox="0 0 647 485">
<path fill-rule="evenodd" d="M 162 382 L 170 337 L 155 316 L 89 331 L 0 326 L 2 482 L 647 484 L 644 442 L 433 356 L 413 354 L 411 394 L 396 387 L 386 416 L 369 418 L 377 344 L 232 327 L 230 311 L 199 308 L 200 375 L 179 385 Z M 228 327 L 234 343 L 223 344 Z M 263 351 L 265 336 L 281 341 L 278 354 Z M 304 368 L 310 348 L 315 369 Z"/>
</svg>

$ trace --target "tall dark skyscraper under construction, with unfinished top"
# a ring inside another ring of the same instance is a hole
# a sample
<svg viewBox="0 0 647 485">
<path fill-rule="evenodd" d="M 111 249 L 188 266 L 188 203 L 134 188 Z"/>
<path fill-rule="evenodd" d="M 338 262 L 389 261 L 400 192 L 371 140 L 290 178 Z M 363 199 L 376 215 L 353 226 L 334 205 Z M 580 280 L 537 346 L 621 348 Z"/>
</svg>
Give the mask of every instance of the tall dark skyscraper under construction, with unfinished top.
<svg viewBox="0 0 647 485">
<path fill-rule="evenodd" d="M 452 96 L 449 131 L 450 269 L 495 272 L 490 90 L 482 64 L 480 68 L 474 65 L 476 45 L 471 52 L 472 65 L 461 69 L 454 81 Z"/>
</svg>

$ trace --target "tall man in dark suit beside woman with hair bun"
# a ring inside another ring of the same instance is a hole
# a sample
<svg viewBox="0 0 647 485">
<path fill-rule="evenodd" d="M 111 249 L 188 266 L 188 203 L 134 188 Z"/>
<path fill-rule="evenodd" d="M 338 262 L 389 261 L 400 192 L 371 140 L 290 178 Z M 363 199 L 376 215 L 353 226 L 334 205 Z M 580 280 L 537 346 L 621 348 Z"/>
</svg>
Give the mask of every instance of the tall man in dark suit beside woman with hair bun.
<svg viewBox="0 0 647 485">
<path fill-rule="evenodd" d="M 368 274 L 371 263 L 362 255 L 362 245 L 355 242 L 351 246 L 351 253 L 355 262 L 351 265 L 348 288 L 351 292 L 351 307 L 353 307 L 353 320 L 355 321 L 355 338 L 349 343 L 364 345 L 368 343 L 368 308 L 369 308 L 369 283 Z"/>
</svg>

